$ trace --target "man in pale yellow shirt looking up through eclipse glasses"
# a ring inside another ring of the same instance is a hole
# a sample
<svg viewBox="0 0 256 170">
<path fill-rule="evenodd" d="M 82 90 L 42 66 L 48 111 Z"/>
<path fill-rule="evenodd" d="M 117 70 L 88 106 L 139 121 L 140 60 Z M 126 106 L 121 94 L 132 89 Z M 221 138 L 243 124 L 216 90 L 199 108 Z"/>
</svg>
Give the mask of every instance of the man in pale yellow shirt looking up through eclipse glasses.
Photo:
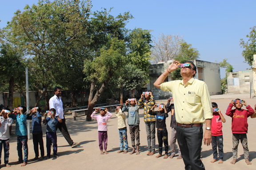
<svg viewBox="0 0 256 170">
<path fill-rule="evenodd" d="M 204 81 L 193 78 L 196 74 L 194 63 L 188 61 L 185 64 L 180 70 L 182 80 L 164 82 L 180 66 L 179 62 L 174 61 L 154 85 L 163 91 L 171 91 L 175 99 L 177 139 L 185 170 L 205 170 L 200 160 L 203 124 L 206 124 L 204 144 L 209 146 L 212 143 L 212 103 Z"/>
</svg>

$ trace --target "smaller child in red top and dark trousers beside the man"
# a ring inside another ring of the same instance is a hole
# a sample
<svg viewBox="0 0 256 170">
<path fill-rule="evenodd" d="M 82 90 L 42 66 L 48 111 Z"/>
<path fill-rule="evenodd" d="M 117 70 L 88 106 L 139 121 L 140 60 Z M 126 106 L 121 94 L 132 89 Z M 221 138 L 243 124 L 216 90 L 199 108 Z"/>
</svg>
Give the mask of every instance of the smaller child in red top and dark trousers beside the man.
<svg viewBox="0 0 256 170">
<path fill-rule="evenodd" d="M 213 152 L 213 160 L 211 161 L 216 162 L 218 158 L 217 146 L 219 150 L 219 163 L 223 163 L 223 133 L 222 133 L 222 123 L 225 123 L 226 120 L 223 117 L 220 109 L 218 108 L 218 104 L 212 102 L 212 109 L 213 109 L 213 118 L 212 118 L 212 152 Z"/>
</svg>

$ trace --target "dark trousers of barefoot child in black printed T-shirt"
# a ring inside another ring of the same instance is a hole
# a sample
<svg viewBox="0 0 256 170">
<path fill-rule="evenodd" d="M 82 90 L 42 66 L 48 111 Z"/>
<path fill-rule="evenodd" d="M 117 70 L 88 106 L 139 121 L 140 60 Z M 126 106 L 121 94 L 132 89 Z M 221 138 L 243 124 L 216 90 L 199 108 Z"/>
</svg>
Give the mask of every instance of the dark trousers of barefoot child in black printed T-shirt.
<svg viewBox="0 0 256 170">
<path fill-rule="evenodd" d="M 162 155 L 163 142 L 164 142 L 165 155 L 168 155 L 169 145 L 168 145 L 168 131 L 167 131 L 167 129 L 162 129 L 162 130 L 157 129 L 157 139 L 158 139 L 159 154 Z"/>
</svg>

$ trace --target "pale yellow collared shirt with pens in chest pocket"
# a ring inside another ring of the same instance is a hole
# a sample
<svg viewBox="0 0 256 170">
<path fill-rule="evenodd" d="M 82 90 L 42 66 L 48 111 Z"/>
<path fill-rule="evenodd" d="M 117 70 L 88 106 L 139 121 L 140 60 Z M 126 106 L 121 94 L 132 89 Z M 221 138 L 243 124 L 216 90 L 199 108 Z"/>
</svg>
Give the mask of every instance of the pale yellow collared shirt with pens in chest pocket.
<svg viewBox="0 0 256 170">
<path fill-rule="evenodd" d="M 164 82 L 163 91 L 172 92 L 176 121 L 180 124 L 202 124 L 212 119 L 212 103 L 204 81 L 191 78 L 186 85 L 183 80 Z"/>
</svg>

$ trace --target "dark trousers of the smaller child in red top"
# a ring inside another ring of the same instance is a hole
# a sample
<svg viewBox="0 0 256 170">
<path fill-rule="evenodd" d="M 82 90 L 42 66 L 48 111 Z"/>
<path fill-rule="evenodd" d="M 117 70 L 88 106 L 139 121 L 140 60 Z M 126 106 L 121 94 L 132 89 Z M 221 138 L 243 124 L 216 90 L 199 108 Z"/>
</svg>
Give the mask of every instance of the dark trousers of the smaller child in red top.
<svg viewBox="0 0 256 170">
<path fill-rule="evenodd" d="M 217 146 L 218 146 L 218 150 L 219 150 L 219 159 L 223 160 L 223 156 L 224 156 L 223 135 L 212 136 L 212 152 L 213 152 L 213 158 L 215 160 L 217 160 L 217 158 L 218 158 Z"/>
</svg>

